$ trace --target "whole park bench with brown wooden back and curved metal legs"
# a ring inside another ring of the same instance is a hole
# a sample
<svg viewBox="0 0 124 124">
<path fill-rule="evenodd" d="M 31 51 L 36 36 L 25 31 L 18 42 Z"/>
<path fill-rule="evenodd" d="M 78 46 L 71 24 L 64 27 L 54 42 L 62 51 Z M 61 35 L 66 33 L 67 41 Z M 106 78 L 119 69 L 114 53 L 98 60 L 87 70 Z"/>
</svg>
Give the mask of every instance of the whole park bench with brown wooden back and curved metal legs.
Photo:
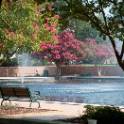
<svg viewBox="0 0 124 124">
<path fill-rule="evenodd" d="M 0 87 L 1 92 L 1 106 L 3 105 L 4 101 L 29 101 L 30 107 L 32 102 L 38 103 L 38 108 L 40 107 L 40 102 L 38 101 L 38 97 L 40 97 L 39 91 L 34 91 L 34 94 L 31 93 L 29 88 L 27 87 Z"/>
</svg>

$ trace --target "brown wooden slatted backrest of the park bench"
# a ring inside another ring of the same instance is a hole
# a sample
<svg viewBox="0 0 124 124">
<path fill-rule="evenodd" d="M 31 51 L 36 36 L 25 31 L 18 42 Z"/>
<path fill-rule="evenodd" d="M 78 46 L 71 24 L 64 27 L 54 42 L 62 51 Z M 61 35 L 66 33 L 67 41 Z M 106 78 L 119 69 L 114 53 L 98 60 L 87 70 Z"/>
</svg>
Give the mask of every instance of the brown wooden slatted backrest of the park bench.
<svg viewBox="0 0 124 124">
<path fill-rule="evenodd" d="M 26 87 L 0 87 L 2 97 L 30 97 Z"/>
</svg>

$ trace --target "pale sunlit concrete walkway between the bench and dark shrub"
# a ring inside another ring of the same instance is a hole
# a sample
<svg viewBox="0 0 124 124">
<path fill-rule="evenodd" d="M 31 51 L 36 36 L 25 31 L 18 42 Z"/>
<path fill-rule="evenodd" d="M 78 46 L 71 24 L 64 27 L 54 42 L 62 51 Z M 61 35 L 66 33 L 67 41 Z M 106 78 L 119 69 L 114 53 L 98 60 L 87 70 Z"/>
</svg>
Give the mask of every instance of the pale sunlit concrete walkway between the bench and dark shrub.
<svg viewBox="0 0 124 124">
<path fill-rule="evenodd" d="M 0 99 L 1 102 L 1 99 Z M 14 101 L 12 104 L 16 104 L 20 107 L 29 107 L 29 102 L 17 102 Z M 48 111 L 43 111 L 40 113 L 28 113 L 28 114 L 17 114 L 17 115 L 7 115 L 5 118 L 18 118 L 18 119 L 31 119 L 31 120 L 58 120 L 80 117 L 84 112 L 85 104 L 77 103 L 62 103 L 62 102 L 49 102 L 40 101 L 41 108 L 47 109 Z M 33 103 L 32 108 L 37 108 L 37 103 Z"/>
</svg>

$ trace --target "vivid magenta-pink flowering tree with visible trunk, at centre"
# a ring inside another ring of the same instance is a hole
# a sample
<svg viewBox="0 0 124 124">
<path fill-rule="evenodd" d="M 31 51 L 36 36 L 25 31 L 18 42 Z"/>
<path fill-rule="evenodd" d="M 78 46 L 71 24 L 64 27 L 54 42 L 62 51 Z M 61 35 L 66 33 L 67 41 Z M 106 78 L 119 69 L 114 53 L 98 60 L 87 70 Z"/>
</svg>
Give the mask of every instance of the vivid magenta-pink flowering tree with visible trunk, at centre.
<svg viewBox="0 0 124 124">
<path fill-rule="evenodd" d="M 49 62 L 54 62 L 58 76 L 61 75 L 61 65 L 79 60 L 82 52 L 81 43 L 74 37 L 73 32 L 64 31 L 55 38 L 58 40 L 55 44 L 42 42 L 40 44 L 40 51 L 35 53 L 35 55 Z"/>
</svg>

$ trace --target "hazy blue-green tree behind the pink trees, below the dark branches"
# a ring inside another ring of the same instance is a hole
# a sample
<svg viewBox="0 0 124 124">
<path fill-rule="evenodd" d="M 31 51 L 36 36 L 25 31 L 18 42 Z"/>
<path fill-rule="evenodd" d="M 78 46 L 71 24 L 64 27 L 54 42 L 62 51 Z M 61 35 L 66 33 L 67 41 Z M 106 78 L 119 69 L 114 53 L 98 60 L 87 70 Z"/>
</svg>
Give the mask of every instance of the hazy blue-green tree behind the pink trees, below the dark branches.
<svg viewBox="0 0 124 124">
<path fill-rule="evenodd" d="M 81 21 L 79 19 L 72 19 L 69 22 L 69 28 L 74 30 L 75 35 L 79 40 L 93 38 L 96 39 L 98 43 L 106 42 L 103 37 L 99 36 L 100 33 L 95 28 L 92 28 L 88 22 Z"/>
</svg>

